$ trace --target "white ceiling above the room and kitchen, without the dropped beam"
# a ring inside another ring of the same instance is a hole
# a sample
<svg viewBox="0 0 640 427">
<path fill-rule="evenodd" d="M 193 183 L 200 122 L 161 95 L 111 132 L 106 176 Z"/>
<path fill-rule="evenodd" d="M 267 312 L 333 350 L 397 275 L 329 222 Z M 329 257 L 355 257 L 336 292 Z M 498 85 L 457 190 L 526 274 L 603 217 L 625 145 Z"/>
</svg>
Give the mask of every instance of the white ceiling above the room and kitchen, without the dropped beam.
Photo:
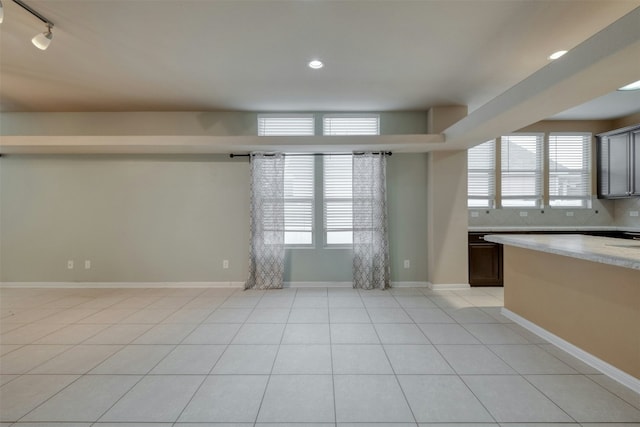
<svg viewBox="0 0 640 427">
<path fill-rule="evenodd" d="M 54 39 L 46 51 L 34 48 L 30 39 L 44 25 L 3 0 L 5 112 L 436 105 L 474 111 L 547 65 L 550 53 L 571 49 L 640 6 L 640 0 L 26 2 L 55 23 Z M 313 58 L 325 68 L 309 69 Z M 639 111 L 636 101 L 615 114 Z M 596 105 L 566 118 L 599 118 L 594 108 L 604 114 Z"/>
</svg>

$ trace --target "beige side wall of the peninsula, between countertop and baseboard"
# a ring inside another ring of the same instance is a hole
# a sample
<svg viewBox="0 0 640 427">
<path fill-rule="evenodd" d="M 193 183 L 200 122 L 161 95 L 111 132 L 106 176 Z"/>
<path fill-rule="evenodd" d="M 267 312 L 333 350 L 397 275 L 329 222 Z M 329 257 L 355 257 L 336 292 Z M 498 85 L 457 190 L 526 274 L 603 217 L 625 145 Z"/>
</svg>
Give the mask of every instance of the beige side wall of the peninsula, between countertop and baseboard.
<svg viewBox="0 0 640 427">
<path fill-rule="evenodd" d="M 505 246 L 504 305 L 640 378 L 640 271 Z"/>
</svg>

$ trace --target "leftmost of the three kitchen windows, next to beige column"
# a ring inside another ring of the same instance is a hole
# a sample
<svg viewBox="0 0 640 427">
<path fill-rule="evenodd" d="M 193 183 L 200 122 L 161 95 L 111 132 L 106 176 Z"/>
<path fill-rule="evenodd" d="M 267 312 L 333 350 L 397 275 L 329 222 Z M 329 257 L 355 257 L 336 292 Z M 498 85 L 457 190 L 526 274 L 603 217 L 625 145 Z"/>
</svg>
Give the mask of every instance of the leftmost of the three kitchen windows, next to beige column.
<svg viewBox="0 0 640 427">
<path fill-rule="evenodd" d="M 467 183 L 470 208 L 495 207 L 496 141 L 476 145 L 467 152 Z"/>
</svg>

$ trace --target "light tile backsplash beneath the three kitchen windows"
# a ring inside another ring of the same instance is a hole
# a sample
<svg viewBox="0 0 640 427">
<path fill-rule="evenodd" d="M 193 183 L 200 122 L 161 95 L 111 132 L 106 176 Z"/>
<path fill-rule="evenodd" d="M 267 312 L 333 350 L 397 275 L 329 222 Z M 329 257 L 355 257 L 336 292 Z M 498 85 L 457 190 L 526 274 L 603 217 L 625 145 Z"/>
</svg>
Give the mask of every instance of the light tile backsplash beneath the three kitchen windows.
<svg viewBox="0 0 640 427">
<path fill-rule="evenodd" d="M 640 199 L 638 199 L 640 200 Z M 617 225 L 614 213 L 619 201 L 594 199 L 591 209 L 469 209 L 470 227 L 517 227 L 517 226 L 611 226 Z M 638 204 L 635 204 L 636 208 Z M 626 209 L 626 207 L 625 207 Z M 629 208 L 630 210 L 631 208 Z M 477 216 L 476 216 L 477 215 Z M 627 217 L 629 214 L 627 213 Z M 638 218 L 635 225 L 638 226 Z M 632 225 L 621 224 L 621 225 Z"/>
</svg>

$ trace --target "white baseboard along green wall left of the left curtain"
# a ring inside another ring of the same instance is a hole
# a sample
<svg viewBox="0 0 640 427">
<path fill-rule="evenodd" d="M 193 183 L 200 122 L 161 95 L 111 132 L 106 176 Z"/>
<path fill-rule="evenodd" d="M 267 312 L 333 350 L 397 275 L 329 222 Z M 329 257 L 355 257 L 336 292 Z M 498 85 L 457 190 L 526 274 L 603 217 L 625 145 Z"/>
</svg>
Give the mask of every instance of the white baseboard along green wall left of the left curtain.
<svg viewBox="0 0 640 427">
<path fill-rule="evenodd" d="M 0 288 L 242 288 L 244 282 L 0 282 Z"/>
</svg>

